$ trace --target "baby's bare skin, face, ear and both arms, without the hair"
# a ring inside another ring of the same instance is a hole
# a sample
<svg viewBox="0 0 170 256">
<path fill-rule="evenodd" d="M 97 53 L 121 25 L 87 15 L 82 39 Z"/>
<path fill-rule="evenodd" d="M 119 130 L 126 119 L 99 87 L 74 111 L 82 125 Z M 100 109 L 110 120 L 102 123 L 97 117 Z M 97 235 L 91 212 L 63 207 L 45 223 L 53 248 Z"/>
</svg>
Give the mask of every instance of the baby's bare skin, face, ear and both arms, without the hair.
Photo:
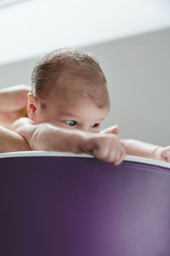
<svg viewBox="0 0 170 256">
<path fill-rule="evenodd" d="M 25 137 L 33 150 L 88 153 L 115 165 L 120 164 L 126 154 L 170 162 L 170 147 L 159 147 L 136 140 L 120 141 L 116 137 L 119 132 L 117 125 L 99 131 L 99 124 L 108 109 L 98 109 L 93 102 L 80 102 L 68 106 L 58 99 L 49 103 L 44 110 L 37 97 L 30 94 L 30 119 L 16 121 L 13 130 Z"/>
</svg>

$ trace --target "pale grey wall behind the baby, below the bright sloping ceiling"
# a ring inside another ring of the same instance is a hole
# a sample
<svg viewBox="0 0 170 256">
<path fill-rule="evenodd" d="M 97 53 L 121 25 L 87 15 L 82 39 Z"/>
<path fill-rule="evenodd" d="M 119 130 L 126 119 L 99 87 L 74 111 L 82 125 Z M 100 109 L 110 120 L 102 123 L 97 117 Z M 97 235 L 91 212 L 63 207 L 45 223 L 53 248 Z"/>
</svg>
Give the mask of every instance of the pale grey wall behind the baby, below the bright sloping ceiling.
<svg viewBox="0 0 170 256">
<path fill-rule="evenodd" d="M 170 144 L 170 28 L 84 48 L 99 60 L 109 84 L 111 113 L 103 127 L 120 136 Z M 30 84 L 36 59 L 0 67 L 0 87 Z"/>
</svg>

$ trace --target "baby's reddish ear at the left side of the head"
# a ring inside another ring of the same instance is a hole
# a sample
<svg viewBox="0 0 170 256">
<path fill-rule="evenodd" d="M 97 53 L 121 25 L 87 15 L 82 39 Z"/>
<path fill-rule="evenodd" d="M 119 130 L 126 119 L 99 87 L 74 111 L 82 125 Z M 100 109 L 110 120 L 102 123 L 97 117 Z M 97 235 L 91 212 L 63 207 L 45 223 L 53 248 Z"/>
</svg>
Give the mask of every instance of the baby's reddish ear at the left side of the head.
<svg viewBox="0 0 170 256">
<path fill-rule="evenodd" d="M 28 103 L 27 103 L 27 112 L 28 117 L 35 121 L 37 117 L 37 113 L 39 113 L 39 102 L 37 100 L 37 97 L 34 96 L 31 92 L 28 93 Z"/>
</svg>

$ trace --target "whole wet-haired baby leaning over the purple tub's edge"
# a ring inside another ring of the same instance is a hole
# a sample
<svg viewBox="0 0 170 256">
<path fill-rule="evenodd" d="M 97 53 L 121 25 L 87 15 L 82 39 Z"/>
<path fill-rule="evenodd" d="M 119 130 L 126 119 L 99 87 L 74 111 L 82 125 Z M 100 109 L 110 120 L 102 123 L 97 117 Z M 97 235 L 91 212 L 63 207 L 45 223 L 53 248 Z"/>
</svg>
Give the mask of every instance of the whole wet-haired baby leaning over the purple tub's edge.
<svg viewBox="0 0 170 256">
<path fill-rule="evenodd" d="M 170 160 L 170 147 L 120 140 L 117 125 L 100 131 L 110 110 L 105 75 L 92 55 L 78 49 L 57 49 L 37 61 L 28 94 L 28 118 L 12 130 L 32 150 L 56 150 L 94 157 L 118 165 L 126 154 Z"/>
</svg>

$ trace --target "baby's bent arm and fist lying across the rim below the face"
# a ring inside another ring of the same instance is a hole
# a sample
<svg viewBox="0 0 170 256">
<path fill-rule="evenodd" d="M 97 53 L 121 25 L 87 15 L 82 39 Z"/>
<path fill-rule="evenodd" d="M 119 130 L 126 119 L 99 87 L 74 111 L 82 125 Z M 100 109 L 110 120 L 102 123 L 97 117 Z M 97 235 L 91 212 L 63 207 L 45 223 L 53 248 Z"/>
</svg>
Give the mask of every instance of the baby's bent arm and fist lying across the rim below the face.
<svg viewBox="0 0 170 256">
<path fill-rule="evenodd" d="M 15 121 L 11 129 L 24 137 L 32 150 L 92 154 L 114 165 L 120 164 L 125 157 L 122 143 L 115 134 L 64 129 L 50 123 L 35 125 L 27 118 Z"/>
</svg>

